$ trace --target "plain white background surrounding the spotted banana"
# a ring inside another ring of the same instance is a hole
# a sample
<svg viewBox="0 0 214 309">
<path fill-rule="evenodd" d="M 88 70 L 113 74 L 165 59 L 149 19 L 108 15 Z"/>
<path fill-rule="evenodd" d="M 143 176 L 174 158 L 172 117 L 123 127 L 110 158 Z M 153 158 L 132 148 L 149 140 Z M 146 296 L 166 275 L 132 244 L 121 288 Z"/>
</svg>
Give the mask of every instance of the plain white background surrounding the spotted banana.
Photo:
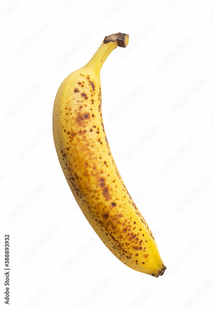
<svg viewBox="0 0 214 309">
<path fill-rule="evenodd" d="M 0 9 L 1 307 L 9 233 L 10 308 L 212 308 L 213 1 L 14 3 L 3 0 Z M 128 33 L 130 43 L 101 70 L 104 125 L 167 266 L 159 278 L 128 268 L 105 247 L 78 208 L 53 143 L 60 83 L 114 32 Z"/>
</svg>

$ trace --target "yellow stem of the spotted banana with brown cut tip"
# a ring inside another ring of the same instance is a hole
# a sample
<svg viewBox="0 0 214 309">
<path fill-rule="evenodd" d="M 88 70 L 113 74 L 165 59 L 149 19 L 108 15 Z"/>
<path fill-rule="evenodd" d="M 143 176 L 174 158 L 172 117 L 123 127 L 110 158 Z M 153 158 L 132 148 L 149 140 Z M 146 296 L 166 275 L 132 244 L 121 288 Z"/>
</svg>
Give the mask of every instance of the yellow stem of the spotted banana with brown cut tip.
<svg viewBox="0 0 214 309">
<path fill-rule="evenodd" d="M 105 36 L 100 47 L 97 49 L 93 57 L 88 61 L 84 68 L 92 67 L 97 73 L 100 73 L 101 67 L 110 53 L 117 48 L 126 47 L 129 43 L 129 35 L 121 32 L 113 33 L 109 36 Z"/>
</svg>

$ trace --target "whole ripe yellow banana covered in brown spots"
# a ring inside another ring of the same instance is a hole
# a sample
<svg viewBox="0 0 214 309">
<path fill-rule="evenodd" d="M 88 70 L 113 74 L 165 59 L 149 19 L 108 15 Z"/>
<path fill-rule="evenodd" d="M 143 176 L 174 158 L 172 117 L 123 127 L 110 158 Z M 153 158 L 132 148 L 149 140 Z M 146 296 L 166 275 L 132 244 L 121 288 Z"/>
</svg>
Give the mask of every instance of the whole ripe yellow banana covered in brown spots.
<svg viewBox="0 0 214 309">
<path fill-rule="evenodd" d="M 153 277 L 166 267 L 152 232 L 114 162 L 101 112 L 100 70 L 129 36 L 106 36 L 91 60 L 61 83 L 53 108 L 53 137 L 69 187 L 94 231 L 130 268 Z"/>
</svg>

